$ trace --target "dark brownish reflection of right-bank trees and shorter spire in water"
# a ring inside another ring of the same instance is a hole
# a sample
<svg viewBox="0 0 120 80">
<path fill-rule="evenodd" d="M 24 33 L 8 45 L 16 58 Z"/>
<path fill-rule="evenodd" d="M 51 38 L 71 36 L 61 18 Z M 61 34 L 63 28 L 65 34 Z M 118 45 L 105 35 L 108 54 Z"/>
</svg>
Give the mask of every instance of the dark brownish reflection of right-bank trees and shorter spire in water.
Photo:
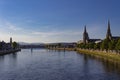
<svg viewBox="0 0 120 80">
<path fill-rule="evenodd" d="M 80 54 L 80 53 L 78 53 Z M 101 58 L 101 57 L 95 57 L 93 55 L 88 55 L 88 54 L 80 54 L 84 57 L 84 63 L 86 64 L 85 67 L 89 66 L 88 60 L 96 60 L 100 62 L 105 70 L 106 73 L 117 73 L 120 74 L 120 63 L 116 61 L 109 61 L 108 59 Z M 87 69 L 87 67 L 85 69 Z"/>
</svg>

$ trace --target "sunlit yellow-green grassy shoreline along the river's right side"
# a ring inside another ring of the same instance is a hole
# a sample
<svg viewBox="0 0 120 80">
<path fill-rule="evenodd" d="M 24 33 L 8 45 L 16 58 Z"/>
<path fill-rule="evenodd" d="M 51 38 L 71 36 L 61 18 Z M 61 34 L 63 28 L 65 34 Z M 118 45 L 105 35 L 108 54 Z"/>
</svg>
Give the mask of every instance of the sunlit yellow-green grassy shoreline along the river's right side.
<svg viewBox="0 0 120 80">
<path fill-rule="evenodd" d="M 87 50 L 87 49 L 80 49 L 80 48 L 52 48 L 52 50 L 76 51 L 80 54 L 87 54 L 97 58 L 103 58 L 108 61 L 118 62 L 120 64 L 120 54 L 116 54 L 116 53 L 103 52 L 103 51 L 97 51 L 97 50 Z"/>
</svg>

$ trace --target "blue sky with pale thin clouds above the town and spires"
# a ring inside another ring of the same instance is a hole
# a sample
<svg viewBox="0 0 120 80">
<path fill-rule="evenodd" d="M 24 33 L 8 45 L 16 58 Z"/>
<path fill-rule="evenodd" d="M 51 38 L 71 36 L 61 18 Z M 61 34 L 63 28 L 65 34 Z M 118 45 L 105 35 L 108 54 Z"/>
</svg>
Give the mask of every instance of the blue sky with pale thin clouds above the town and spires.
<svg viewBox="0 0 120 80">
<path fill-rule="evenodd" d="M 120 0 L 0 0 L 0 40 L 77 42 L 84 26 L 90 38 L 104 39 L 108 20 L 120 36 Z"/>
</svg>

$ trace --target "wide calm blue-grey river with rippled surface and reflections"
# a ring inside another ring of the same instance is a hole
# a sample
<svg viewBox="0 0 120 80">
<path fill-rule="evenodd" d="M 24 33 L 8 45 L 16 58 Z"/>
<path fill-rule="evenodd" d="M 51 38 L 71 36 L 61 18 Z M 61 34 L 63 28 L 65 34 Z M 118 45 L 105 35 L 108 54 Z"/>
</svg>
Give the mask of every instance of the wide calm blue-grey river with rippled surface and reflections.
<svg viewBox="0 0 120 80">
<path fill-rule="evenodd" d="M 0 80 L 120 80 L 120 67 L 74 51 L 22 49 L 0 56 Z"/>
</svg>

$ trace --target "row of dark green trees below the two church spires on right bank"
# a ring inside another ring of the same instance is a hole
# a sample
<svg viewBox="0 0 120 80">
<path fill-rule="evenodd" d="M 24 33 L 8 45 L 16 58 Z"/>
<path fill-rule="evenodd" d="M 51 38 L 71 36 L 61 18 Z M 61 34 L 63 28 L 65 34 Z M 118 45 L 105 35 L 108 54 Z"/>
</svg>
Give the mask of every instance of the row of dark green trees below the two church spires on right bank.
<svg viewBox="0 0 120 80">
<path fill-rule="evenodd" d="M 82 49 L 95 49 L 95 50 L 120 50 L 120 38 L 119 39 L 104 39 L 100 43 L 89 42 L 87 44 L 77 44 L 78 48 Z"/>
</svg>

